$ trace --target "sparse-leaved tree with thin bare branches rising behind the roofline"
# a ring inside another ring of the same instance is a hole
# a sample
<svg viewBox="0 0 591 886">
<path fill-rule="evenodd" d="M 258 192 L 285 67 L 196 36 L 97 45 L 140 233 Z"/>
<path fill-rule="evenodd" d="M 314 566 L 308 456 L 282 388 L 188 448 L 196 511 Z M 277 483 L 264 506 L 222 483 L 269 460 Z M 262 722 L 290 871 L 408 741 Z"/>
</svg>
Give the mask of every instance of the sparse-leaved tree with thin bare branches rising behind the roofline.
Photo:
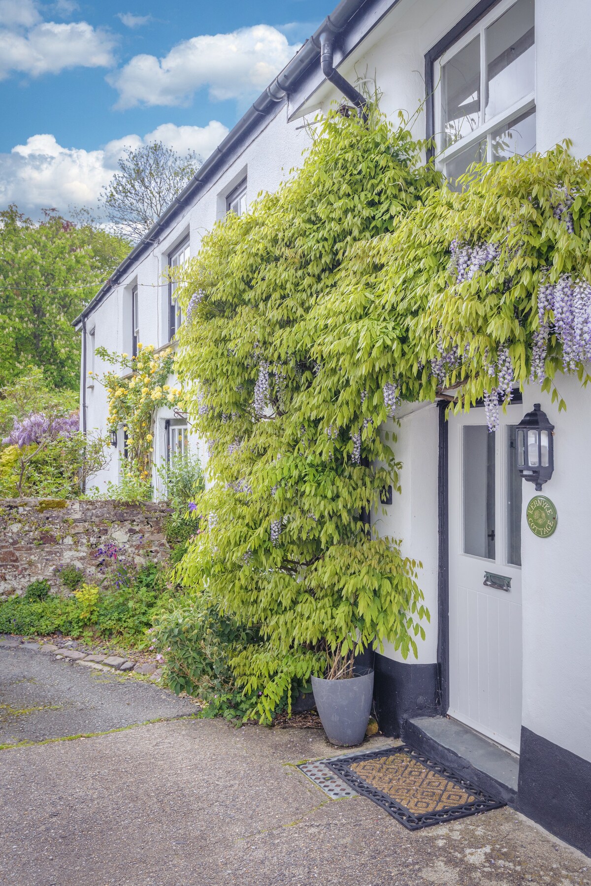
<svg viewBox="0 0 591 886">
<path fill-rule="evenodd" d="M 101 194 L 106 215 L 121 237 L 139 240 L 152 228 L 201 166 L 195 152 L 181 157 L 162 142 L 128 148 Z"/>
</svg>

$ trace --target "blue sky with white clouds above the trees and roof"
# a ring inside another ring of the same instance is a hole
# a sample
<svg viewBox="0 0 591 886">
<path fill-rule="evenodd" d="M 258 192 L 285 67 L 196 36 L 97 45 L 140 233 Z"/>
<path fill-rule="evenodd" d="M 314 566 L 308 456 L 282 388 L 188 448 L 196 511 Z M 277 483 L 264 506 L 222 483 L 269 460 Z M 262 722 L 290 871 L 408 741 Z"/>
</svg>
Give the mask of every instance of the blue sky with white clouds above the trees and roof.
<svg viewBox="0 0 591 886">
<path fill-rule="evenodd" d="M 0 208 L 96 206 L 126 144 L 205 157 L 333 5 L 0 0 Z"/>
</svg>

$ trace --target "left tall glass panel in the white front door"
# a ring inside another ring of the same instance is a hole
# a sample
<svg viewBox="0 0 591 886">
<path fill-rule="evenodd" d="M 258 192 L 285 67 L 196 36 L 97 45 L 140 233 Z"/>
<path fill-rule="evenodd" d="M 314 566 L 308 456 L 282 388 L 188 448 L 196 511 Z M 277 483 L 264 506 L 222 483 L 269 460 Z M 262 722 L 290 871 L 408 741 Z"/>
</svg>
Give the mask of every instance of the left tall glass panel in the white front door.
<svg viewBox="0 0 591 886">
<path fill-rule="evenodd" d="M 494 560 L 494 431 L 463 429 L 463 552 Z"/>
</svg>

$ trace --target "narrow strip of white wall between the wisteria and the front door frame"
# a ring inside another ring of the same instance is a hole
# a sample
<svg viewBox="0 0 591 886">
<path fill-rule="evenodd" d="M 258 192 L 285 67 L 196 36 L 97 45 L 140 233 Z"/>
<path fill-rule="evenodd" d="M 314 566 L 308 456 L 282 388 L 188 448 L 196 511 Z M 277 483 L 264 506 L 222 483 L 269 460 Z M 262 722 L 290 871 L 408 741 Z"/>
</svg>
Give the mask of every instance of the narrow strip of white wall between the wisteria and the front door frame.
<svg viewBox="0 0 591 886">
<path fill-rule="evenodd" d="M 404 415 L 404 412 L 407 414 Z M 380 536 L 400 539 L 403 556 L 423 563 L 423 568 L 418 570 L 417 583 L 424 593 L 431 623 L 423 622 L 426 638 L 424 641 L 417 639 L 418 658 L 410 652 L 407 662 L 432 664 L 437 661 L 438 409 L 431 403 L 412 404 L 400 408 L 399 415 L 400 426 L 394 428 L 390 421 L 383 430 L 396 433 L 393 451 L 397 461 L 402 464 L 400 493 L 393 493 L 391 505 L 380 507 L 371 514 L 371 525 Z M 400 651 L 395 652 L 392 644 L 385 644 L 384 655 L 395 661 L 404 661 Z"/>
</svg>

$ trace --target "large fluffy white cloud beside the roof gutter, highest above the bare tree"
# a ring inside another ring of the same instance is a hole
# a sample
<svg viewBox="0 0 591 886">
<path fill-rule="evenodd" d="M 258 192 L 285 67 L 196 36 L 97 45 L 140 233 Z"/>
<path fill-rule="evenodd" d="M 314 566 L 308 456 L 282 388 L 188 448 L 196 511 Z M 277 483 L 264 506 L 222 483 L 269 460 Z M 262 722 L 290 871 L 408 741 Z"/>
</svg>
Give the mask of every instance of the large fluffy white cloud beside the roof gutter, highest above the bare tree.
<svg viewBox="0 0 591 886">
<path fill-rule="evenodd" d="M 297 50 L 276 27 L 255 25 L 183 40 L 164 58 L 137 55 L 107 80 L 119 91 L 119 108 L 187 104 L 202 87 L 214 100 L 244 99 L 261 92 Z"/>
</svg>

